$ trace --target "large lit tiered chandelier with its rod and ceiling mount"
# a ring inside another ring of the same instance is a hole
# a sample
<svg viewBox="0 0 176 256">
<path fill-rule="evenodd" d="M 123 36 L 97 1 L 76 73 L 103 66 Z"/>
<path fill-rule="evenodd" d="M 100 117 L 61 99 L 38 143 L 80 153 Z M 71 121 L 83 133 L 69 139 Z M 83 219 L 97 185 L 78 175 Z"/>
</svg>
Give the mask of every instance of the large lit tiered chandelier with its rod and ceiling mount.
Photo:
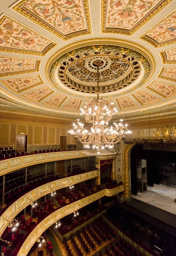
<svg viewBox="0 0 176 256">
<path fill-rule="evenodd" d="M 127 124 L 122 123 L 122 119 L 118 124 L 114 122 L 114 126 L 108 126 L 108 122 L 118 110 L 113 102 L 107 105 L 105 100 L 99 97 L 99 67 L 102 62 L 101 60 L 93 62 L 97 67 L 97 98 L 92 100 L 91 106 L 85 104 L 84 108 L 81 108 L 81 115 L 85 116 L 86 122 L 92 127 L 90 131 L 85 129 L 84 124 L 77 119 L 77 123 L 73 123 L 72 129 L 68 131 L 69 134 L 76 135 L 75 137 L 84 144 L 85 148 L 90 148 L 90 145 L 93 149 L 113 148 L 122 136 L 131 133 Z"/>
</svg>

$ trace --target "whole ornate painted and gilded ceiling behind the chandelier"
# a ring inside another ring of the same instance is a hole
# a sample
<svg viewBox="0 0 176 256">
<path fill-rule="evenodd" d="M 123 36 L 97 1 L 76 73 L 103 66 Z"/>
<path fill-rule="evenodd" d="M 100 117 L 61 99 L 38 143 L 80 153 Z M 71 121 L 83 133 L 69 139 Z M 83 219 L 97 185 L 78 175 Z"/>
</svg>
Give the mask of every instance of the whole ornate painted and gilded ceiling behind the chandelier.
<svg viewBox="0 0 176 256">
<path fill-rule="evenodd" d="M 0 112 L 75 119 L 96 96 L 119 116 L 176 114 L 176 0 L 6 0 Z"/>
</svg>

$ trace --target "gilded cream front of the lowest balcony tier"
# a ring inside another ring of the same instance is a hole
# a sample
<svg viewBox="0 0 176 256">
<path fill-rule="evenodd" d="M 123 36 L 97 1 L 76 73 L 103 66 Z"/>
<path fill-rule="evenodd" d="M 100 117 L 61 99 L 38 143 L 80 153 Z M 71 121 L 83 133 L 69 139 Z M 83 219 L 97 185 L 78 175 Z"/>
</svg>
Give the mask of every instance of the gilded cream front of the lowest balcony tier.
<svg viewBox="0 0 176 256">
<path fill-rule="evenodd" d="M 104 196 L 113 196 L 123 191 L 124 191 L 123 185 L 118 186 L 114 189 L 103 189 L 99 192 L 95 192 L 94 194 L 87 196 L 86 198 L 82 198 L 79 201 L 66 205 L 61 209 L 57 209 L 55 212 L 52 212 L 51 214 L 49 214 L 49 216 L 44 218 L 43 221 L 41 221 L 35 227 L 34 230 L 32 230 L 32 232 L 29 234 L 29 236 L 26 238 L 26 240 L 23 242 L 22 246 L 20 247 L 20 250 L 17 256 L 26 256 L 29 250 L 31 249 L 32 245 L 37 240 L 37 238 L 47 228 L 49 228 L 52 224 L 54 224 L 55 221 L 58 221 L 59 219 L 65 217 L 66 215 L 71 214 L 75 210 L 81 209 L 86 205 L 91 204 L 92 202 Z"/>
</svg>

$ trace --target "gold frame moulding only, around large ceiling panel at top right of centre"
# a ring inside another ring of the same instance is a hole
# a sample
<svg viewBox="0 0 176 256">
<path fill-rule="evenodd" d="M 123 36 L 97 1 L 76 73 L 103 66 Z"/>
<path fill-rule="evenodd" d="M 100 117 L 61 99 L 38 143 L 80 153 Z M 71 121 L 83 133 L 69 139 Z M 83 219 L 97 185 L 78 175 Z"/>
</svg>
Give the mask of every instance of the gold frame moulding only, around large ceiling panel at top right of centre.
<svg viewBox="0 0 176 256">
<path fill-rule="evenodd" d="M 120 1 L 118 1 L 120 2 Z M 106 12 L 107 12 L 107 0 L 101 0 L 101 33 L 109 33 L 109 34 L 120 34 L 120 35 L 133 35 L 136 31 L 138 31 L 142 26 L 144 26 L 149 20 L 151 20 L 155 15 L 157 15 L 162 9 L 166 6 L 168 6 L 169 3 L 171 3 L 172 0 L 165 0 L 162 2 L 156 9 L 153 10 L 147 17 L 144 18 L 135 28 L 133 28 L 131 31 L 127 30 L 119 30 L 119 29 L 108 29 L 105 27 L 105 18 L 106 18 Z"/>
</svg>

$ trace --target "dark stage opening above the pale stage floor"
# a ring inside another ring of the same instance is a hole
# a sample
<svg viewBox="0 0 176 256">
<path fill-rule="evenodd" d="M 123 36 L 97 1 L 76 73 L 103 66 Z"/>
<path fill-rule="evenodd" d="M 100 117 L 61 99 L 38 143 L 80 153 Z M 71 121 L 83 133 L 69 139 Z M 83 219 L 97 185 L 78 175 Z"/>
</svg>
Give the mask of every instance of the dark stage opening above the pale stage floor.
<svg viewBox="0 0 176 256">
<path fill-rule="evenodd" d="M 133 195 L 147 186 L 162 184 L 176 188 L 176 146 L 161 143 L 135 145 L 130 154 Z"/>
</svg>

